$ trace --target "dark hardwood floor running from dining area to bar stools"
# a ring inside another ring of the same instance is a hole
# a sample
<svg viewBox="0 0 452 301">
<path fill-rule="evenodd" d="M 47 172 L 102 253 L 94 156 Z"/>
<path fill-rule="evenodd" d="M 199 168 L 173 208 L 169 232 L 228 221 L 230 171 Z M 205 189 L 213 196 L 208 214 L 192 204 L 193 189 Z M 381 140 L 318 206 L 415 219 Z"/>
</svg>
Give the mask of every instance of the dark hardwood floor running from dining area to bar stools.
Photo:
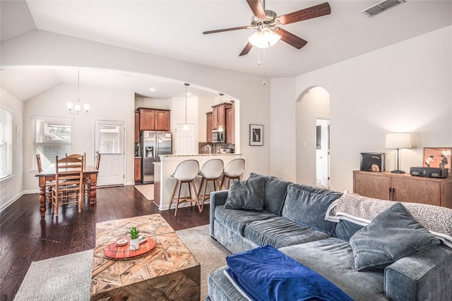
<svg viewBox="0 0 452 301">
<path fill-rule="evenodd" d="M 58 221 L 49 206 L 41 219 L 38 194 L 23 195 L 0 216 L 1 301 L 13 300 L 30 264 L 95 246 L 95 224 L 100 221 L 160 213 L 175 231 L 209 223 L 209 207 L 199 213 L 193 207 L 159 211 L 133 186 L 97 189 L 97 204 L 91 210 L 85 201 L 83 212 L 70 204 L 60 208 Z"/>
</svg>

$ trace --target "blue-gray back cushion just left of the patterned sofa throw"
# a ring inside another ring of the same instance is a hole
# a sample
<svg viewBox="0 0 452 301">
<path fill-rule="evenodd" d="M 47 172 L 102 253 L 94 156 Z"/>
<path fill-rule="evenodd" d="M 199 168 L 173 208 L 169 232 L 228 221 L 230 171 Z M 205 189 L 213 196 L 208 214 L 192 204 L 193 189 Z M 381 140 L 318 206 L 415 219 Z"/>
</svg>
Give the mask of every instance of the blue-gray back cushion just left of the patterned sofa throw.
<svg viewBox="0 0 452 301">
<path fill-rule="evenodd" d="M 290 184 L 283 207 L 283 216 L 319 231 L 333 235 L 335 223 L 324 216 L 330 204 L 342 194 L 307 185 Z"/>
</svg>

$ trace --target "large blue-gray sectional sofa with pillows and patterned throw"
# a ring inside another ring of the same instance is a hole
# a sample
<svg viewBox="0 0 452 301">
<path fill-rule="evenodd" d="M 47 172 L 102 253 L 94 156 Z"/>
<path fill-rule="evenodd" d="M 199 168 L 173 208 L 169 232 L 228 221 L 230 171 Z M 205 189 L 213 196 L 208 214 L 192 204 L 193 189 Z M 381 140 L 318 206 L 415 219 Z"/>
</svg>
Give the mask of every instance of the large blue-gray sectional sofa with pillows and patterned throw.
<svg viewBox="0 0 452 301">
<path fill-rule="evenodd" d="M 236 184 L 210 195 L 210 235 L 231 252 L 271 245 L 357 301 L 452 300 L 451 209 L 403 203 L 406 209 L 256 173 Z M 410 216 L 420 216 L 428 230 L 413 226 Z M 399 224 L 404 221 L 408 226 Z M 386 240 L 396 242 L 393 249 L 405 240 L 416 243 L 392 254 Z M 377 264 L 369 263 L 369 245 L 383 256 Z M 208 276 L 206 300 L 246 300 L 223 273 L 226 268 Z"/>
</svg>

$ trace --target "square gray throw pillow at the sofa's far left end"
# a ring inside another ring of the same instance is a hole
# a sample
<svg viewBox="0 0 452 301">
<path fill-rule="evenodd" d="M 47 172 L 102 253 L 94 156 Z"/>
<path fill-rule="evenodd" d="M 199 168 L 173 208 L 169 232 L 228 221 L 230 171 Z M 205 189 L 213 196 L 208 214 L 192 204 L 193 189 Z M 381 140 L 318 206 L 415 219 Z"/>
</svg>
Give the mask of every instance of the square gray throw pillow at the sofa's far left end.
<svg viewBox="0 0 452 301">
<path fill-rule="evenodd" d="M 263 210 L 263 185 L 261 177 L 233 180 L 225 203 L 226 209 Z"/>
</svg>

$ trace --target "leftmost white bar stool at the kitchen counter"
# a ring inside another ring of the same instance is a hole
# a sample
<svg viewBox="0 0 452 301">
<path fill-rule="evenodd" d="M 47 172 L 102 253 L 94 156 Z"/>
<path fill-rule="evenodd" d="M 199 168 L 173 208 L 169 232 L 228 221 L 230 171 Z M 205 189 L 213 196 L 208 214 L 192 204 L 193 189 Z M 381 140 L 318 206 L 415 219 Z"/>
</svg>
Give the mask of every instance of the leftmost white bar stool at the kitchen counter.
<svg viewBox="0 0 452 301">
<path fill-rule="evenodd" d="M 191 206 L 193 206 L 193 202 L 198 204 L 198 210 L 201 212 L 201 207 L 199 206 L 198 194 L 196 193 L 196 186 L 194 179 L 198 176 L 199 173 L 199 163 L 196 160 L 185 160 L 179 163 L 176 167 L 176 170 L 172 174 L 172 178 L 176 179 L 176 183 L 174 184 L 174 189 L 172 190 L 171 202 L 169 202 L 169 209 L 171 209 L 172 201 L 174 200 L 174 193 L 176 193 L 177 185 L 179 184 L 179 194 L 177 195 L 177 203 L 176 203 L 176 211 L 174 211 L 174 216 L 177 215 L 177 207 L 179 207 L 180 203 L 190 202 Z M 189 186 L 189 196 L 181 197 L 181 188 L 182 184 L 186 183 Z M 193 185 L 193 190 L 195 192 L 196 199 L 192 199 L 191 197 L 191 185 Z"/>
</svg>

